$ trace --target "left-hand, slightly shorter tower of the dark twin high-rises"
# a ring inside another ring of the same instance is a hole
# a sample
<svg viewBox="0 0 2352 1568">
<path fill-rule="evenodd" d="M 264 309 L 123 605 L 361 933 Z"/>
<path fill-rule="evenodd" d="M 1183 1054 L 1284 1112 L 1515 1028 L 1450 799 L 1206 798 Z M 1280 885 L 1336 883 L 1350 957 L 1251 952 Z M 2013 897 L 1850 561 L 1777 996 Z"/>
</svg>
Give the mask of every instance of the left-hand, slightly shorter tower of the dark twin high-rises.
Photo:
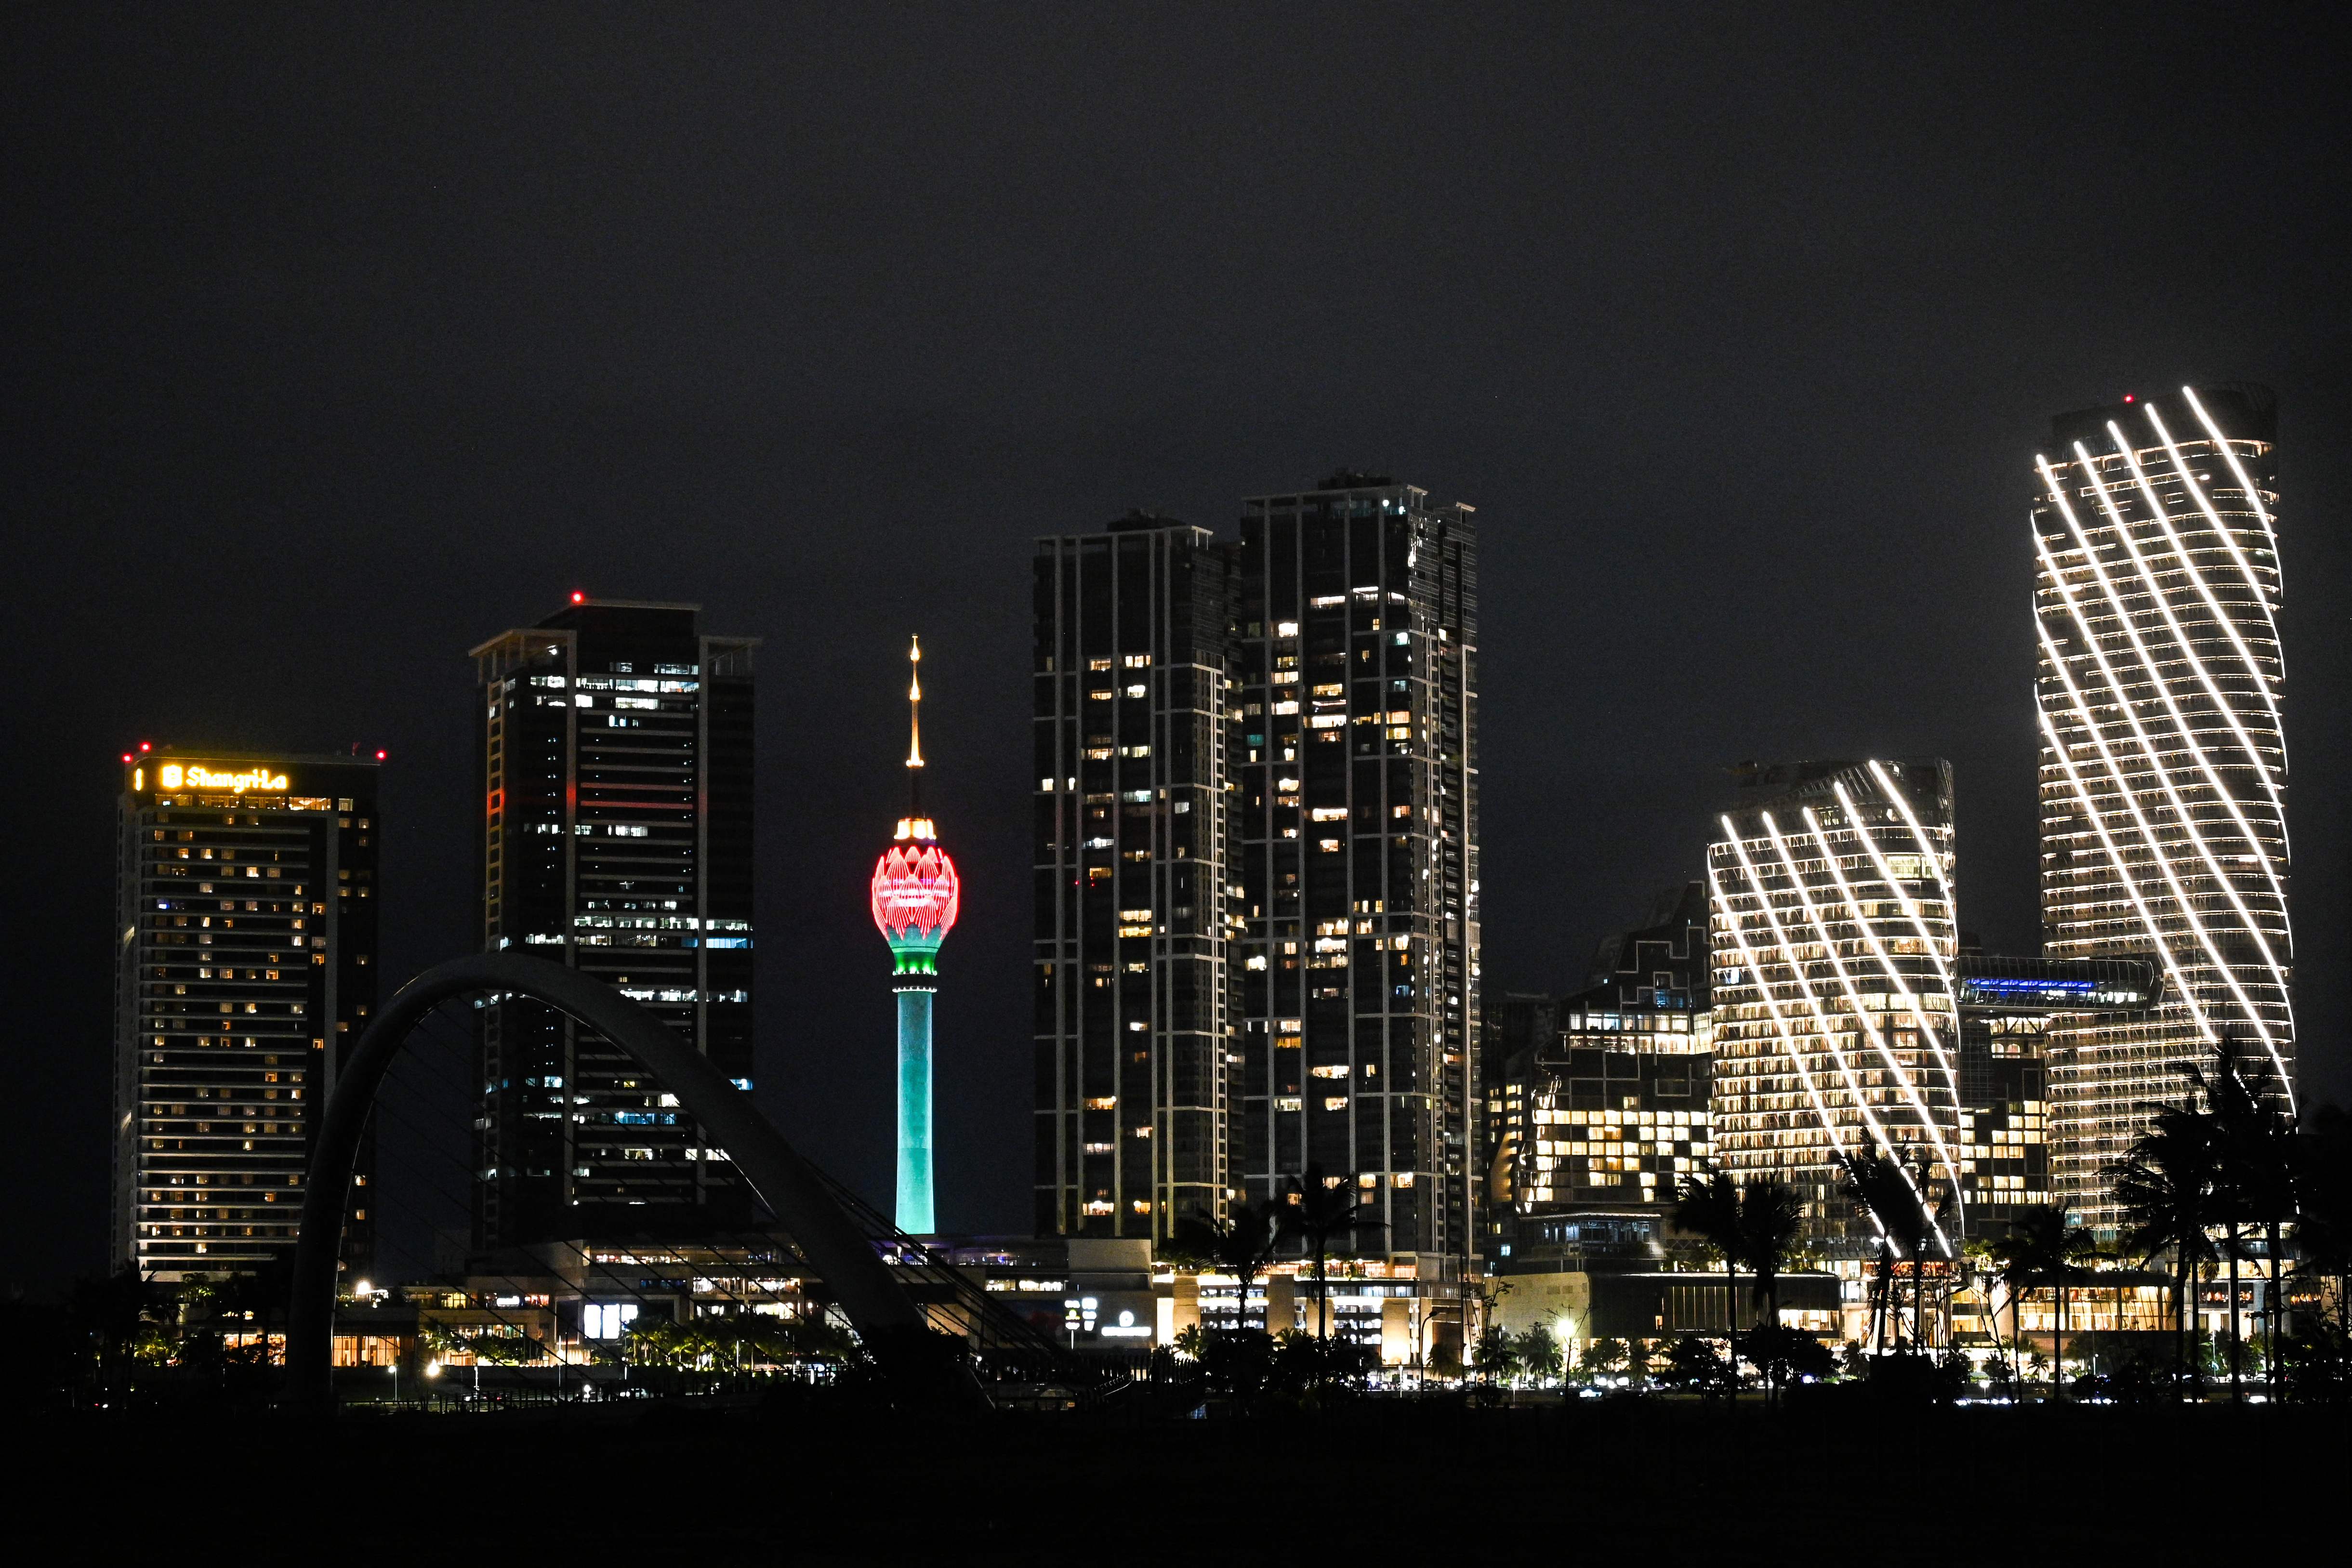
<svg viewBox="0 0 2352 1568">
<path fill-rule="evenodd" d="M 1037 1234 L 1223 1218 L 1232 564 L 1131 515 L 1037 541 Z"/>
</svg>

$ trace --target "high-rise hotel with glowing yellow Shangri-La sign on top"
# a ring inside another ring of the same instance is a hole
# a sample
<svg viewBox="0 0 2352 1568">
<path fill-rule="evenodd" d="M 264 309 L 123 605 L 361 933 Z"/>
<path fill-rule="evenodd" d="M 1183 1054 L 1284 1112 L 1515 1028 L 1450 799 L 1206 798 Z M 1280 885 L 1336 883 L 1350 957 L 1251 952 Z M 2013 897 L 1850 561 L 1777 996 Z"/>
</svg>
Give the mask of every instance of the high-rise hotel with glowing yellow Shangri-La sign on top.
<svg viewBox="0 0 2352 1568">
<path fill-rule="evenodd" d="M 294 1255 L 315 1119 L 376 1001 L 376 762 L 139 750 L 115 849 L 113 1255 Z M 372 1253 L 362 1152 L 343 1262 Z"/>
</svg>

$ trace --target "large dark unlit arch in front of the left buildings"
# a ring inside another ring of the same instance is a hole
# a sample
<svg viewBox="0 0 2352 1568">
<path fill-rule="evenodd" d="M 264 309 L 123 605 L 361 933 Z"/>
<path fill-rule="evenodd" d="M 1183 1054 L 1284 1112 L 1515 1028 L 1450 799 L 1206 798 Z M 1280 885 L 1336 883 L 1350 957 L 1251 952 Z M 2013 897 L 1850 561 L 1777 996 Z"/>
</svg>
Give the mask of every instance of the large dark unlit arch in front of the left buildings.
<svg viewBox="0 0 2352 1568">
<path fill-rule="evenodd" d="M 360 1133 L 409 1032 L 442 1001 L 477 992 L 517 992 L 597 1030 L 677 1095 L 727 1159 L 776 1213 L 849 1314 L 877 1366 L 908 1385 L 936 1387 L 946 1359 L 936 1335 L 873 1248 L 873 1239 L 826 1190 L 826 1178 L 783 1140 L 750 1095 L 682 1041 L 668 1025 L 602 980 L 517 952 L 485 952 L 437 964 L 393 994 L 343 1065 L 310 1147 L 301 1234 L 294 1241 L 294 1300 L 287 1309 L 287 1392 L 296 1406 L 327 1408 L 334 1359 L 334 1272 L 360 1157 Z M 950 1373 L 953 1375 L 953 1373 Z M 957 1394 L 985 1403 L 969 1371 L 953 1375 Z"/>
</svg>

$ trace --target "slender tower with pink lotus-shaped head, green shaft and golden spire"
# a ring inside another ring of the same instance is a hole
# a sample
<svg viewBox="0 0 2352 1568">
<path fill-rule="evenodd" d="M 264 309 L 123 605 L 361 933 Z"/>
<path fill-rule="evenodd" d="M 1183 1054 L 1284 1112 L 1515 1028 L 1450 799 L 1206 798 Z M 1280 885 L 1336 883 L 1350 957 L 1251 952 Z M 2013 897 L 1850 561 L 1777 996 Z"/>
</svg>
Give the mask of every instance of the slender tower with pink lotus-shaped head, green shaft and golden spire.
<svg viewBox="0 0 2352 1568">
<path fill-rule="evenodd" d="M 898 992 L 898 1229 L 924 1237 L 931 1215 L 931 997 L 938 945 L 955 924 L 955 863 L 922 813 L 922 639 L 908 661 L 906 799 L 891 846 L 875 860 L 873 912 L 891 950 Z"/>
</svg>

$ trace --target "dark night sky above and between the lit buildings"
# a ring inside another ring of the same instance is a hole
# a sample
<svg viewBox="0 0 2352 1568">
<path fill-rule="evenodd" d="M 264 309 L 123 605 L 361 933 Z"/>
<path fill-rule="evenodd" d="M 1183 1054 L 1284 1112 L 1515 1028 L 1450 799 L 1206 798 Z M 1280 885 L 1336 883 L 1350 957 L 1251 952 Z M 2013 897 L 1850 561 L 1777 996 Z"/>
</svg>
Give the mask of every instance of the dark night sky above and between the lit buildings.
<svg viewBox="0 0 2352 1568">
<path fill-rule="evenodd" d="M 12 7 L 0 1279 L 101 1262 L 122 745 L 388 748 L 412 973 L 475 933 L 463 654 L 572 588 L 767 639 L 760 1093 L 870 1197 L 924 632 L 950 1227 L 1028 1218 L 1030 538 L 1129 505 L 1479 508 L 1496 985 L 1698 875 L 1743 757 L 1952 757 L 2030 950 L 2030 461 L 2183 381 L 2281 397 L 2345 1098 L 2345 59 L 1891 9 Z"/>
</svg>

